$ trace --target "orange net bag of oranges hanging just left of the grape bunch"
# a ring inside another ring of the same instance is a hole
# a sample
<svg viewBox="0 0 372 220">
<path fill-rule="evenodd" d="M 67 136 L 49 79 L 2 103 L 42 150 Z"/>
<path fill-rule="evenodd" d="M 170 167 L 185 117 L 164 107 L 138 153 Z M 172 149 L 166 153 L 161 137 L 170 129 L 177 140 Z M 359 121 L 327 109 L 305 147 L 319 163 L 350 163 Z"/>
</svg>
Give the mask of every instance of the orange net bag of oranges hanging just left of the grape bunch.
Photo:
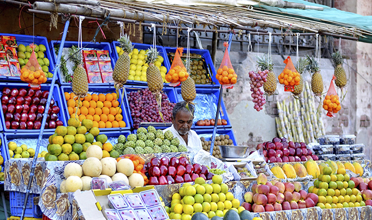
<svg viewBox="0 0 372 220">
<path fill-rule="evenodd" d="M 234 71 L 233 65 L 231 65 L 228 47 L 229 44 L 224 42 L 225 54 L 222 58 L 220 68 L 217 70 L 216 79 L 223 85 L 223 88 L 233 88 L 233 84 L 237 83 L 238 76 Z"/>
</svg>

